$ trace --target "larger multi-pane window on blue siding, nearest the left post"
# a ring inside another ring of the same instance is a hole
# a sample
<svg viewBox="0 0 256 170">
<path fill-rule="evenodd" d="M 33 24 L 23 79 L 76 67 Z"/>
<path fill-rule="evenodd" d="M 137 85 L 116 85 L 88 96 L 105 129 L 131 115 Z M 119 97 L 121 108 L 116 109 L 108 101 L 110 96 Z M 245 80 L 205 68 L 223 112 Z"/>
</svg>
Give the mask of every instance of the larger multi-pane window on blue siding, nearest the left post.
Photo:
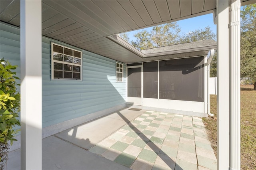
<svg viewBox="0 0 256 170">
<path fill-rule="evenodd" d="M 52 79 L 81 80 L 82 51 L 52 43 Z"/>
</svg>

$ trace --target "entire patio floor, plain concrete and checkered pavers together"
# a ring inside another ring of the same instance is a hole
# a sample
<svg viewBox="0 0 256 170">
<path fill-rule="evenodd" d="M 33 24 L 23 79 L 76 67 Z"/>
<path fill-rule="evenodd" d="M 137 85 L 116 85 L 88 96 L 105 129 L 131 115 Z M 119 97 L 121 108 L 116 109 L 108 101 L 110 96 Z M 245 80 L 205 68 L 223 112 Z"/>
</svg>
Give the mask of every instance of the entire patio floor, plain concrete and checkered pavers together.
<svg viewBox="0 0 256 170">
<path fill-rule="evenodd" d="M 7 170 L 20 169 L 20 150 Z M 217 169 L 201 118 L 124 108 L 42 140 L 45 170 Z"/>
</svg>

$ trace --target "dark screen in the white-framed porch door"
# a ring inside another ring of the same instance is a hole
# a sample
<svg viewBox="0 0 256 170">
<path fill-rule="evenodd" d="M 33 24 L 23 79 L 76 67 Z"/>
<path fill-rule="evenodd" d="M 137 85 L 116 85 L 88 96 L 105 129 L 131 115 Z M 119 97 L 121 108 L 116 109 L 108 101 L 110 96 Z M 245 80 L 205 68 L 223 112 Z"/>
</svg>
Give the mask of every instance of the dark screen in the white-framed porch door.
<svg viewBox="0 0 256 170">
<path fill-rule="evenodd" d="M 141 97 L 141 67 L 128 68 L 128 97 Z"/>
</svg>

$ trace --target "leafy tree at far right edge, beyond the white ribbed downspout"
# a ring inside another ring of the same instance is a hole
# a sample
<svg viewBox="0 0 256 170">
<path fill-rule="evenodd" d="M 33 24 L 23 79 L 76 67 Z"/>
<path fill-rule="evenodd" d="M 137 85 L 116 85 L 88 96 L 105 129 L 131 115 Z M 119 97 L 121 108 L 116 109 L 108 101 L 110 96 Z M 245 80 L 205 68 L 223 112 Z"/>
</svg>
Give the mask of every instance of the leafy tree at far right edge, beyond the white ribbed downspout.
<svg viewBox="0 0 256 170">
<path fill-rule="evenodd" d="M 256 81 L 256 4 L 241 11 L 241 77 Z"/>
</svg>

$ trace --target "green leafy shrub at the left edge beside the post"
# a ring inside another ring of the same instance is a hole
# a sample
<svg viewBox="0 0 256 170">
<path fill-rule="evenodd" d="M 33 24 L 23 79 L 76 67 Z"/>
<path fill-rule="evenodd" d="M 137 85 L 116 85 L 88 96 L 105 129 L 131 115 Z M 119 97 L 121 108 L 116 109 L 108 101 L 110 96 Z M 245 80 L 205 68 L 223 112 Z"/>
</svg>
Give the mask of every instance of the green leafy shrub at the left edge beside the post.
<svg viewBox="0 0 256 170">
<path fill-rule="evenodd" d="M 20 111 L 20 93 L 17 91 L 19 84 L 15 81 L 19 78 L 15 77 L 16 72 L 12 71 L 18 66 L 10 65 L 4 59 L 0 62 L 0 142 L 1 146 L 7 146 L 8 141 L 11 145 L 13 141 L 17 141 L 14 135 L 19 131 L 16 126 L 20 126 L 20 120 L 17 119 Z"/>
</svg>

